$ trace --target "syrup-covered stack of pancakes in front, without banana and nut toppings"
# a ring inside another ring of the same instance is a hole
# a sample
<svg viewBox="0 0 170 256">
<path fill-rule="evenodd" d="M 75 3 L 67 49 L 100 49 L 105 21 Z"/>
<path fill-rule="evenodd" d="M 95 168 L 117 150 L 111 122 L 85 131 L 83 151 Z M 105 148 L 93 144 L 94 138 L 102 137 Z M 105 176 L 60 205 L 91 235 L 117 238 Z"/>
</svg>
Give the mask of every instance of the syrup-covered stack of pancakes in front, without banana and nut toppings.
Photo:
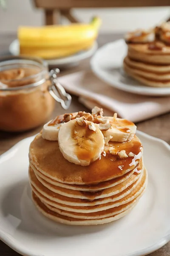
<svg viewBox="0 0 170 256">
<path fill-rule="evenodd" d="M 135 135 L 124 143 L 109 142 L 133 156 L 102 154 L 89 166 L 66 160 L 57 141 L 38 134 L 29 149 L 29 179 L 34 204 L 46 217 L 70 225 L 117 220 L 136 205 L 147 186 L 142 144 Z"/>
</svg>

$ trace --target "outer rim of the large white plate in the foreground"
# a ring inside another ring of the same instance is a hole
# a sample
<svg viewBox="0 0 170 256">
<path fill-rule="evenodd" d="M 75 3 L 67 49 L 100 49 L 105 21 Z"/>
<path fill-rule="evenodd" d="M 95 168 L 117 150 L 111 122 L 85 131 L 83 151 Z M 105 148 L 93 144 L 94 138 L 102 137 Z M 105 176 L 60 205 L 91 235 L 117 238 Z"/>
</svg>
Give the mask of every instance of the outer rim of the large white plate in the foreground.
<svg viewBox="0 0 170 256">
<path fill-rule="evenodd" d="M 139 130 L 136 131 L 136 134 L 141 136 L 141 137 L 145 137 L 145 138 L 147 138 L 151 141 L 156 141 L 157 143 L 160 143 L 161 145 L 163 145 L 166 148 L 166 150 L 170 151 L 170 145 L 167 142 L 165 142 L 164 140 L 153 137 L 153 136 L 151 136 L 149 134 L 146 134 L 146 133 L 144 133 L 142 131 L 139 131 Z M 37 134 L 35 134 L 31 137 L 26 137 L 23 140 L 20 140 L 14 146 L 12 146 L 10 149 L 8 149 L 8 151 L 1 154 L 0 155 L 0 163 L 1 163 L 1 160 L 3 159 L 3 157 L 6 157 L 6 155 L 11 153 L 11 151 L 14 151 L 15 149 L 17 149 L 17 147 L 20 146 L 20 144 L 24 143 L 26 140 L 34 139 L 34 137 L 36 135 Z M 27 250 L 25 247 L 24 248 L 22 247 L 22 244 L 20 244 L 20 242 L 18 240 L 13 239 L 13 237 L 11 237 L 11 235 L 6 234 L 1 229 L 0 229 L 0 239 L 5 244 L 7 244 L 9 247 L 11 247 L 11 249 L 16 251 L 17 253 L 20 253 L 23 256 L 44 256 L 43 254 L 36 254 L 36 253 L 29 252 L 29 250 Z M 159 241 L 152 244 L 151 246 L 146 247 L 142 250 L 135 251 L 133 253 L 120 254 L 118 256 L 143 256 L 143 255 L 147 255 L 149 253 L 153 253 L 154 251 L 158 250 L 159 248 L 161 248 L 162 246 L 167 244 L 169 241 L 170 241 L 170 230 L 168 230 L 167 234 L 164 237 L 161 237 L 161 239 L 159 239 Z"/>
</svg>

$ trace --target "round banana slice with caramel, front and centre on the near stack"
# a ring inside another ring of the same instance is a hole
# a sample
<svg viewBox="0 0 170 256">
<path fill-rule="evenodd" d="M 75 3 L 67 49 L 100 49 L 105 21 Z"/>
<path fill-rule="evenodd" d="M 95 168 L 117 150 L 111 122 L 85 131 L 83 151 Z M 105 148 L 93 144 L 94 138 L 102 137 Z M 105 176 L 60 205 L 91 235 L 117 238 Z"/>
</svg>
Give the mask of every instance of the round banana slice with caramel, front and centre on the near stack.
<svg viewBox="0 0 170 256">
<path fill-rule="evenodd" d="M 80 125 L 77 119 L 63 123 L 59 129 L 58 143 L 63 157 L 71 163 L 88 166 L 97 160 L 104 149 L 105 141 L 98 124 L 95 131 L 89 129 L 91 122 Z"/>
</svg>

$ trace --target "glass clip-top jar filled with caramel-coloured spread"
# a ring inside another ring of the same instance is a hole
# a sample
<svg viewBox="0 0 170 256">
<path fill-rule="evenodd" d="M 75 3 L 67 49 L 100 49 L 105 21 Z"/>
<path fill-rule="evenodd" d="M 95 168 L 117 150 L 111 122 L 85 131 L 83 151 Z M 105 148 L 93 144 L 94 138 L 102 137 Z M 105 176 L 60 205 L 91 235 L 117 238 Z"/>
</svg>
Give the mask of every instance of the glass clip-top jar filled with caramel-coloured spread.
<svg viewBox="0 0 170 256">
<path fill-rule="evenodd" d="M 0 60 L 0 130 L 26 131 L 45 123 L 55 100 L 68 109 L 71 96 L 57 82 L 58 69 L 38 58 Z"/>
</svg>

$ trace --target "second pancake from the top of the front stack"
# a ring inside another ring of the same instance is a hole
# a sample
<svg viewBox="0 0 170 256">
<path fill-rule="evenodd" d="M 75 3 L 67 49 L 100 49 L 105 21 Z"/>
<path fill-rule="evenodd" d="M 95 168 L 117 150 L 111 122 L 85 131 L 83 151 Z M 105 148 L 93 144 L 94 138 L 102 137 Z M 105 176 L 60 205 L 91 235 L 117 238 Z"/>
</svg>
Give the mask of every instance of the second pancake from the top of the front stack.
<svg viewBox="0 0 170 256">
<path fill-rule="evenodd" d="M 81 190 L 81 191 L 99 191 L 101 189 L 106 189 L 106 188 L 110 188 L 112 186 L 116 186 L 119 183 L 127 180 L 129 177 L 131 177 L 131 175 L 133 175 L 133 173 L 135 172 L 135 170 L 141 170 L 143 169 L 143 160 L 141 158 L 140 163 L 136 166 L 136 168 L 134 168 L 132 171 L 127 172 L 125 175 L 120 176 L 118 178 L 112 179 L 112 180 L 107 180 L 107 181 L 103 181 L 100 183 L 97 183 L 96 185 L 73 185 L 73 184 L 65 184 L 65 183 L 61 183 L 58 182 L 56 180 L 53 180 L 47 176 L 45 176 L 44 174 L 42 174 L 40 171 L 38 171 L 35 166 L 30 163 L 31 168 L 34 170 L 35 175 L 38 175 L 39 177 L 41 177 L 43 180 L 46 180 L 48 183 L 54 185 L 54 186 L 59 186 L 65 189 L 73 189 L 73 190 Z"/>
</svg>

